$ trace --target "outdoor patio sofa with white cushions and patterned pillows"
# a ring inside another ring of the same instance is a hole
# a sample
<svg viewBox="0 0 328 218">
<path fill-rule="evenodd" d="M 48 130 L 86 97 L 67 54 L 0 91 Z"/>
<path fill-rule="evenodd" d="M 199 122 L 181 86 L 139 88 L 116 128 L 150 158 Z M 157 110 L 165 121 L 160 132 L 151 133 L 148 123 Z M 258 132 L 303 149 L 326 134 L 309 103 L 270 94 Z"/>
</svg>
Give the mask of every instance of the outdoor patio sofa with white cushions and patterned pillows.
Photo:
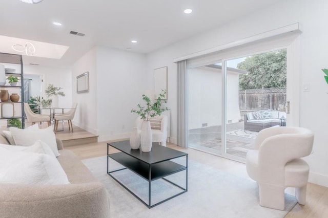
<svg viewBox="0 0 328 218">
<path fill-rule="evenodd" d="M 255 114 L 261 114 L 258 117 Z M 279 125 L 280 118 L 286 118 L 286 112 L 263 110 L 258 112 L 250 112 L 244 115 L 244 129 L 254 132 L 260 132 L 264 128 Z"/>
</svg>

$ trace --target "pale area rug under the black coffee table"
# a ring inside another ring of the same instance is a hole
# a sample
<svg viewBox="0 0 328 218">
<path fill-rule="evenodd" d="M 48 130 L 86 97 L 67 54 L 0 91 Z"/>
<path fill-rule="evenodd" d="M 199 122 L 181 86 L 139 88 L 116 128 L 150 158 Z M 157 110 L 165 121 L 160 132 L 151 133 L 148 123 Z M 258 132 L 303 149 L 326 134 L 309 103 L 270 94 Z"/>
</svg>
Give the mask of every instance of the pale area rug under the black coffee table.
<svg viewBox="0 0 328 218">
<path fill-rule="evenodd" d="M 183 159 L 177 162 L 183 163 Z M 188 192 L 148 209 L 126 189 L 107 175 L 107 157 L 83 160 L 93 175 L 103 182 L 110 195 L 111 217 L 283 217 L 296 204 L 294 196 L 285 193 L 285 210 L 261 207 L 257 183 L 220 171 L 208 165 L 189 160 Z M 110 168 L 120 166 L 110 161 Z M 124 183 L 141 194 L 148 195 L 148 183 L 130 170 L 118 175 Z M 185 173 L 171 175 L 170 179 L 185 182 Z M 162 180 L 157 180 L 162 181 Z M 161 183 L 161 182 L 159 182 Z M 152 195 L 168 194 L 174 190 L 167 184 L 152 183 Z M 145 193 L 142 193 L 145 192 Z M 173 193 L 172 192 L 172 193 Z"/>
</svg>

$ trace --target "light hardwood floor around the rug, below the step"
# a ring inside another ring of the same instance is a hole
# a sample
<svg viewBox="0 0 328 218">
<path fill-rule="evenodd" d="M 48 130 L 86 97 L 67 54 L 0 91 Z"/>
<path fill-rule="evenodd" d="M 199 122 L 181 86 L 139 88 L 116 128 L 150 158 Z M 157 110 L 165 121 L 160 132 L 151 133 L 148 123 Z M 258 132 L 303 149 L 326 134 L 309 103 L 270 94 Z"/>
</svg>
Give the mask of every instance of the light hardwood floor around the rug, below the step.
<svg viewBox="0 0 328 218">
<path fill-rule="evenodd" d="M 245 164 L 220 158 L 205 152 L 194 149 L 181 148 L 177 145 L 168 143 L 170 148 L 187 152 L 189 158 L 196 160 L 202 164 L 215 167 L 219 170 L 229 172 L 244 179 L 250 179 L 246 172 Z M 100 157 L 107 155 L 107 142 L 98 142 L 85 145 L 75 145 L 66 147 L 73 151 L 80 159 L 88 159 L 93 157 Z M 116 149 L 111 148 L 110 152 L 117 152 Z M 321 218 L 328 217 L 328 188 L 308 183 L 308 192 L 306 195 L 306 205 L 296 206 L 285 216 L 288 218 Z"/>
</svg>

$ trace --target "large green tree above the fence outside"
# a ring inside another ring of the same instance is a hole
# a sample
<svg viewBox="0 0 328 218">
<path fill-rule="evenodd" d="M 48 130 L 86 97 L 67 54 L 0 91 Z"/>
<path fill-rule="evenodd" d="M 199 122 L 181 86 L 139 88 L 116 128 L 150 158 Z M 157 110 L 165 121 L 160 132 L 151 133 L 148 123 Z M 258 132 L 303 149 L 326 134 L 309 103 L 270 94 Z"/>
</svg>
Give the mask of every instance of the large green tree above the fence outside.
<svg viewBox="0 0 328 218">
<path fill-rule="evenodd" d="M 248 71 L 239 75 L 239 90 L 286 87 L 286 50 L 247 57 L 237 68 Z"/>
</svg>

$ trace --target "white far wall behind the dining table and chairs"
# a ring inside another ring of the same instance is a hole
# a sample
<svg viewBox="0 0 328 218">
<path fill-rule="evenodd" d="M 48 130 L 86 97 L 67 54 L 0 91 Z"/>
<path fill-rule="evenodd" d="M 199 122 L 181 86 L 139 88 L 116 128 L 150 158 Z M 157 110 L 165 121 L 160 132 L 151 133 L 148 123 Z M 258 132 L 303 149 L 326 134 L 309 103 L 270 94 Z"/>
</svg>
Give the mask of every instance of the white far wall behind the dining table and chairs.
<svg viewBox="0 0 328 218">
<path fill-rule="evenodd" d="M 24 74 L 42 75 L 43 97 L 46 98 L 45 89 L 48 84 L 63 88 L 65 97 L 58 97 L 59 107 L 70 107 L 72 103 L 72 71 L 70 68 L 53 68 L 45 66 L 24 65 Z"/>
</svg>

